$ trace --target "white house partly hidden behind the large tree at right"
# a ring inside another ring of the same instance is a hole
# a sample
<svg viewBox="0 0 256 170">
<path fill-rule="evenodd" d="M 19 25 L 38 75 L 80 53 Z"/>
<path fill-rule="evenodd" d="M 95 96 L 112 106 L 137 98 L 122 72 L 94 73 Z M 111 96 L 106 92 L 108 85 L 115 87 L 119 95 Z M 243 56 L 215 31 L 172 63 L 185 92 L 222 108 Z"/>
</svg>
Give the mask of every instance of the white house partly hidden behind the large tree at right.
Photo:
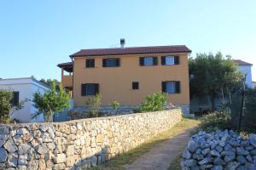
<svg viewBox="0 0 256 170">
<path fill-rule="evenodd" d="M 238 70 L 241 71 L 243 75 L 247 75 L 246 77 L 246 84 L 248 88 L 253 88 L 253 81 L 252 81 L 252 67 L 253 64 L 247 63 L 241 59 L 234 59 L 234 63 L 237 65 Z"/>
</svg>

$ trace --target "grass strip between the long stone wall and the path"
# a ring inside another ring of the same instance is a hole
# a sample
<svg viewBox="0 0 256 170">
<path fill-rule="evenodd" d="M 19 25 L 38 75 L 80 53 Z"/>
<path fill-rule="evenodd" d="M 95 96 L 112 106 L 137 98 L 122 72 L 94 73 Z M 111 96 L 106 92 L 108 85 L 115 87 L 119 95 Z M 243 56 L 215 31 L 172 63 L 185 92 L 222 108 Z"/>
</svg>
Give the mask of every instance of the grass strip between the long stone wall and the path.
<svg viewBox="0 0 256 170">
<path fill-rule="evenodd" d="M 184 130 L 198 126 L 200 120 L 190 119 L 190 118 L 183 118 L 181 122 L 178 122 L 177 125 L 170 128 L 169 130 L 160 133 L 153 139 L 150 139 L 147 143 L 141 144 L 137 148 L 130 150 L 126 153 L 121 154 L 118 157 L 115 157 L 97 167 L 91 167 L 91 170 L 102 170 L 102 169 L 123 169 L 125 164 L 129 164 L 133 161 L 136 161 L 139 156 L 142 156 L 144 153 L 148 152 L 161 142 L 165 141 L 166 139 L 172 139 L 177 136 L 178 133 L 182 133 Z M 178 162 L 179 165 L 179 162 Z"/>
</svg>

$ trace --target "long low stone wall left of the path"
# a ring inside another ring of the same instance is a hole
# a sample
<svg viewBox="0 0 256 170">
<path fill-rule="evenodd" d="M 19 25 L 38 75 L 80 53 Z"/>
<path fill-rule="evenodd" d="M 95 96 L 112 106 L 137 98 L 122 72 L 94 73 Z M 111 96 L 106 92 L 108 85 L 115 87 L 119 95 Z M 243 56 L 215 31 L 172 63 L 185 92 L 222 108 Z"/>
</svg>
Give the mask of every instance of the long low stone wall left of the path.
<svg viewBox="0 0 256 170">
<path fill-rule="evenodd" d="M 173 127 L 182 111 L 0 125 L 0 169 L 86 169 Z"/>
</svg>

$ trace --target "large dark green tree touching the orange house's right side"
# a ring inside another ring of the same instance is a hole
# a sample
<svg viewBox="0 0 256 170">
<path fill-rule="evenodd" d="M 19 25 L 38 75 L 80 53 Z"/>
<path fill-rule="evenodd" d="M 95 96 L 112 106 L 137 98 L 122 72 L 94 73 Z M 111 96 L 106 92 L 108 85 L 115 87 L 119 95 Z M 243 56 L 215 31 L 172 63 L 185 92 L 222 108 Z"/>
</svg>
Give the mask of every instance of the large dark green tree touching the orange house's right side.
<svg viewBox="0 0 256 170">
<path fill-rule="evenodd" d="M 216 111 L 215 100 L 219 94 L 224 103 L 225 96 L 239 87 L 242 78 L 231 57 L 224 57 L 220 52 L 196 54 L 195 59 L 189 59 L 189 76 L 190 96 L 209 96 L 212 111 Z"/>
</svg>

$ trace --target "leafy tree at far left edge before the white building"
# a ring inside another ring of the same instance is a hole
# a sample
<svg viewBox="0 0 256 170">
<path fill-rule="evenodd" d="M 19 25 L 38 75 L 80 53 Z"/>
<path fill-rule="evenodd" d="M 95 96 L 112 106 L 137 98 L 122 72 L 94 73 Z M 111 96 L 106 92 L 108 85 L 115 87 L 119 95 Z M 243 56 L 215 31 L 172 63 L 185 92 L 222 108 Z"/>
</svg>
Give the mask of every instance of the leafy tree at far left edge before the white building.
<svg viewBox="0 0 256 170">
<path fill-rule="evenodd" d="M 26 99 L 21 101 L 18 105 L 12 105 L 14 92 L 11 90 L 0 89 L 0 122 L 9 123 L 11 111 L 18 111 L 23 108 Z"/>
</svg>

